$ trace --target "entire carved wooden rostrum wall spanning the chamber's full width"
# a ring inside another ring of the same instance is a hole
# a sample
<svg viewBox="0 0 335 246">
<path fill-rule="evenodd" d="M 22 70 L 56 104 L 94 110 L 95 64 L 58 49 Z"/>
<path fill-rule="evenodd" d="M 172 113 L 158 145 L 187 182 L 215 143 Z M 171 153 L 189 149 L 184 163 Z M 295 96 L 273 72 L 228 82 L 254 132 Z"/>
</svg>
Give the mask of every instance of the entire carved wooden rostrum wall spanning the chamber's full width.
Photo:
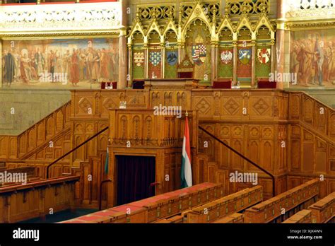
<svg viewBox="0 0 335 246">
<path fill-rule="evenodd" d="M 160 104 L 197 111 L 199 121 L 192 122 L 194 183 L 223 182 L 225 192 L 231 193 L 247 184 L 229 182 L 230 172 L 258 172 L 264 197 L 269 197 L 272 192 L 268 175 L 203 131 L 198 131 L 196 124 L 199 122 L 201 127 L 274 174 L 276 194 L 320 175 L 324 175 L 320 197 L 335 191 L 334 110 L 305 93 L 281 90 L 182 90 L 169 87 L 73 90 L 71 104 L 56 110 L 20 136 L 0 136 L 0 158 L 6 160 L 8 167 L 35 165 L 40 176 L 45 177 L 46 165 L 52 160 L 109 126 L 110 133 L 103 132 L 54 165 L 50 171 L 52 176 L 71 172 L 71 168 L 82 168 L 81 163 L 90 164 L 90 158 L 101 158 L 101 154 L 106 153 L 110 137 L 114 152 L 156 156 L 158 163 L 162 163 L 157 170 L 160 173 L 158 180 L 162 181 L 164 175 L 170 176 L 170 182 L 158 187 L 157 193 L 167 192 L 180 185 L 180 134 L 184 118 L 170 117 L 163 121 L 165 123 L 155 122 L 152 109 Z M 120 105 L 126 105 L 127 114 L 120 115 Z M 111 110 L 119 112 L 112 122 L 109 121 Z M 136 148 L 124 148 L 125 139 L 130 139 L 131 146 Z M 54 148 L 49 148 L 49 141 L 54 142 Z M 110 157 L 111 163 L 113 158 Z M 93 175 L 99 173 L 93 169 L 90 172 Z M 83 199 L 86 204 L 96 204 L 97 193 L 91 194 L 93 191 L 87 188 L 88 185 L 91 184 L 81 185 L 80 190 L 86 191 L 78 199 Z M 112 199 L 108 198 L 110 201 Z"/>
</svg>

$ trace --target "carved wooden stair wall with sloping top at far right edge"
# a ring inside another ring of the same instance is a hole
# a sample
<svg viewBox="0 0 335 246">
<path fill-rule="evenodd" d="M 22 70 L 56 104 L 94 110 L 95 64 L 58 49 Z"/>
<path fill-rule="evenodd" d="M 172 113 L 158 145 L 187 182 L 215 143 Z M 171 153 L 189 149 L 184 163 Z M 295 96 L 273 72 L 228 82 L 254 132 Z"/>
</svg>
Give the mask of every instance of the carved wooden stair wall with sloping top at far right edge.
<svg viewBox="0 0 335 246">
<path fill-rule="evenodd" d="M 291 92 L 288 115 L 288 188 L 324 177 L 320 197 L 335 191 L 335 111 L 300 92 Z"/>
</svg>

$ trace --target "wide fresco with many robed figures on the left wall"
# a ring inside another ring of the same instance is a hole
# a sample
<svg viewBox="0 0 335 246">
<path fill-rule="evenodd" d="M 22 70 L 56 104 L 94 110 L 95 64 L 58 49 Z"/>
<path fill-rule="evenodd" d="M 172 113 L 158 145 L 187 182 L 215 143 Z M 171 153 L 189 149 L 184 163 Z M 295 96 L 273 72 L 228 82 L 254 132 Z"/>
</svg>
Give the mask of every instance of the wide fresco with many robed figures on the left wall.
<svg viewBox="0 0 335 246">
<path fill-rule="evenodd" d="M 2 88 L 100 88 L 117 81 L 117 39 L 15 40 L 2 48 Z"/>
</svg>

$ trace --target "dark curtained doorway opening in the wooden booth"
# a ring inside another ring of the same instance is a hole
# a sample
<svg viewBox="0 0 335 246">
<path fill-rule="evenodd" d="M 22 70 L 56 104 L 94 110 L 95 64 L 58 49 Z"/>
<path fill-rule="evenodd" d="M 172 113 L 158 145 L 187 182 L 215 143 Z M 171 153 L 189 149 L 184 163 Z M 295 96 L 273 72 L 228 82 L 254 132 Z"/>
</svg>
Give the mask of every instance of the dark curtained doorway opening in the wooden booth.
<svg viewBox="0 0 335 246">
<path fill-rule="evenodd" d="M 117 156 L 117 205 L 155 195 L 155 157 Z"/>
</svg>

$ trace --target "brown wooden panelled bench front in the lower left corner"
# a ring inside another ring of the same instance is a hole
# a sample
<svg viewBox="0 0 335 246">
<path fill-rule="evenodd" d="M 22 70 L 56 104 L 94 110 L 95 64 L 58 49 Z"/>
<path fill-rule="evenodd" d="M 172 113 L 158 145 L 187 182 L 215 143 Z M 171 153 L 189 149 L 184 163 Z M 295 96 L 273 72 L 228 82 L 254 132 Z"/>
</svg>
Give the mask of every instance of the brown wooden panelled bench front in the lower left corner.
<svg viewBox="0 0 335 246">
<path fill-rule="evenodd" d="M 79 177 L 59 177 L 35 184 L 0 188 L 0 223 L 45 216 L 74 209 L 74 182 Z M 4 195 L 6 194 L 6 195 Z"/>
</svg>

